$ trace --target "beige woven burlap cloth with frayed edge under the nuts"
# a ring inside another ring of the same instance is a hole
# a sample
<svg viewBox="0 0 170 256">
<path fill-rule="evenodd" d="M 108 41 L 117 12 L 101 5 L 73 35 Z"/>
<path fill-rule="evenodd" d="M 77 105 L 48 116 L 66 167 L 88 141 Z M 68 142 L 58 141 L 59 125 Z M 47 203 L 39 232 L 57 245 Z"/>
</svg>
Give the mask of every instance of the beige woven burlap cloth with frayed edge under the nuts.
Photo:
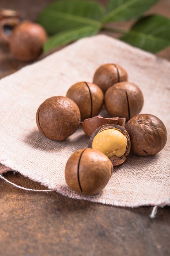
<svg viewBox="0 0 170 256">
<path fill-rule="evenodd" d="M 0 163 L 71 198 L 124 207 L 170 204 L 170 139 L 157 155 L 138 157 L 114 169 L 95 196 L 74 193 L 64 180 L 68 157 L 88 145 L 79 128 L 63 142 L 45 138 L 35 122 L 39 105 L 65 95 L 77 81 L 92 81 L 95 69 L 118 63 L 144 94 L 143 113 L 159 117 L 170 135 L 170 63 L 108 36 L 85 38 L 0 81 Z"/>
</svg>

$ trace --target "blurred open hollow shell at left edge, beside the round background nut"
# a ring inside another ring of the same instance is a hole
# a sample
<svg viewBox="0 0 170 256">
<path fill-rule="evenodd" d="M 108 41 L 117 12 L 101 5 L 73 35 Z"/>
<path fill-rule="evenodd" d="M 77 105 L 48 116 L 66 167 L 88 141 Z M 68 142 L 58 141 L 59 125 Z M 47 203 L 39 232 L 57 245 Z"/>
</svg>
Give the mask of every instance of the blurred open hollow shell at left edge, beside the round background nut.
<svg viewBox="0 0 170 256">
<path fill-rule="evenodd" d="M 11 32 L 19 23 L 19 18 L 4 18 L 0 21 L 0 40 L 2 43 L 9 43 Z"/>
</svg>

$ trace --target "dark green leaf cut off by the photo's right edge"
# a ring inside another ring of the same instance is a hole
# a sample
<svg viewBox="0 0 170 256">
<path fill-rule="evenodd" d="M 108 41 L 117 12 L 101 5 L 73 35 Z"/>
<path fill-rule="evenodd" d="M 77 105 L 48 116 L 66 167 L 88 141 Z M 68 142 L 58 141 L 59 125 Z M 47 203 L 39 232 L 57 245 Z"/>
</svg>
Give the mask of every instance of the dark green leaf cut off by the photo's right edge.
<svg viewBox="0 0 170 256">
<path fill-rule="evenodd" d="M 146 16 L 120 39 L 148 52 L 159 52 L 170 45 L 170 19 L 160 15 Z"/>
</svg>

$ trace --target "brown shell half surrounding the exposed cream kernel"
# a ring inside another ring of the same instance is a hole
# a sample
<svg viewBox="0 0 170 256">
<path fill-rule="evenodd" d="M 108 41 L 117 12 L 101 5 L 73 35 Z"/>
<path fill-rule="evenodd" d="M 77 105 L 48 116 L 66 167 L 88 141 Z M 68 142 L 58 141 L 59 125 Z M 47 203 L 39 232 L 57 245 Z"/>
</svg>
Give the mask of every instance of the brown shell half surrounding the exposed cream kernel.
<svg viewBox="0 0 170 256">
<path fill-rule="evenodd" d="M 117 157 L 116 155 L 110 158 L 110 161 L 112 162 L 113 166 L 117 166 L 119 164 L 124 163 L 124 161 L 126 160 L 126 157 L 129 155 L 130 152 L 130 137 L 128 135 L 128 132 L 125 130 L 124 127 L 119 126 L 119 125 L 103 125 L 101 127 L 99 127 L 97 130 L 95 130 L 95 132 L 93 132 L 93 134 L 91 135 L 89 142 L 88 142 L 88 147 L 92 148 L 92 144 L 93 144 L 93 139 L 95 138 L 95 136 L 99 133 L 102 132 L 103 130 L 108 130 L 108 129 L 115 129 L 118 130 L 119 132 L 121 132 L 124 136 L 126 136 L 127 139 L 127 146 L 126 146 L 126 150 L 124 155 L 122 155 L 121 157 Z M 105 141 L 103 141 L 103 143 L 105 143 Z"/>
</svg>

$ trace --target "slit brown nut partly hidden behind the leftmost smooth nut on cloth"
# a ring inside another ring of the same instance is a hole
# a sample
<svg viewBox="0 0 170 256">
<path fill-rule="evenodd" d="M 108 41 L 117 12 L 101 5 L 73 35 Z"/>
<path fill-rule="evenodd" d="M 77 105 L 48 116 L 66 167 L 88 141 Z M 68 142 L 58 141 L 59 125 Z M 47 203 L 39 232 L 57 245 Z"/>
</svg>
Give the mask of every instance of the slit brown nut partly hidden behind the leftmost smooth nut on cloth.
<svg viewBox="0 0 170 256">
<path fill-rule="evenodd" d="M 79 107 L 81 120 L 96 116 L 104 100 L 102 90 L 89 82 L 75 83 L 68 89 L 66 97 L 72 99 Z"/>
</svg>

